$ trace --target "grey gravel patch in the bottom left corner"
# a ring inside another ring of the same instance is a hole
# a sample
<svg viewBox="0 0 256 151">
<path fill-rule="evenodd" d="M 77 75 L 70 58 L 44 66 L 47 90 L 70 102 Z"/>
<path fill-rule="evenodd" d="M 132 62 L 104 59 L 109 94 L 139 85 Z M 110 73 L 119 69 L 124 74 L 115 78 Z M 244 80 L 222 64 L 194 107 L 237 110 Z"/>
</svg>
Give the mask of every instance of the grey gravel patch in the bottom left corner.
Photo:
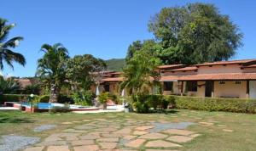
<svg viewBox="0 0 256 151">
<path fill-rule="evenodd" d="M 25 148 L 27 145 L 32 145 L 40 141 L 39 137 L 24 137 L 15 135 L 4 135 L 0 139 L 0 150 L 15 151 Z"/>
</svg>

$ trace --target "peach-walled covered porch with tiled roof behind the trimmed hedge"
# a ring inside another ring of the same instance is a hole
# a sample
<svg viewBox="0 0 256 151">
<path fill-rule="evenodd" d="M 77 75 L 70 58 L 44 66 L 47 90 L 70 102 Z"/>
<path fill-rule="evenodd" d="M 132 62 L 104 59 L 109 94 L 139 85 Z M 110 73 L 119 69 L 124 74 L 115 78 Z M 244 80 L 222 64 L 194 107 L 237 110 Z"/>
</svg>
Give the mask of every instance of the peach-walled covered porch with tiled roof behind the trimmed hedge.
<svg viewBox="0 0 256 151">
<path fill-rule="evenodd" d="M 163 94 L 212 98 L 256 98 L 256 74 L 162 76 Z"/>
</svg>

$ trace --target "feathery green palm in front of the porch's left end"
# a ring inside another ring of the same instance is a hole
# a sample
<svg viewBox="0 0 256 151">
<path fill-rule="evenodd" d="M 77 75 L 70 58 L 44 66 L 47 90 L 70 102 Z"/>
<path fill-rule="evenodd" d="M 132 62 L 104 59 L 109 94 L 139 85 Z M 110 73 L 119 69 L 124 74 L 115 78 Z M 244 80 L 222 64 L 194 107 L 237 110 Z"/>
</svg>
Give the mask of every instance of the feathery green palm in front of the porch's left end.
<svg viewBox="0 0 256 151">
<path fill-rule="evenodd" d="M 125 65 L 125 81 L 121 83 L 121 89 L 126 88 L 132 91 L 133 95 L 148 92 L 148 87 L 152 87 L 154 80 L 158 80 L 160 76 L 155 70 L 158 65 L 160 59 L 155 58 L 150 51 L 135 52 Z"/>
</svg>

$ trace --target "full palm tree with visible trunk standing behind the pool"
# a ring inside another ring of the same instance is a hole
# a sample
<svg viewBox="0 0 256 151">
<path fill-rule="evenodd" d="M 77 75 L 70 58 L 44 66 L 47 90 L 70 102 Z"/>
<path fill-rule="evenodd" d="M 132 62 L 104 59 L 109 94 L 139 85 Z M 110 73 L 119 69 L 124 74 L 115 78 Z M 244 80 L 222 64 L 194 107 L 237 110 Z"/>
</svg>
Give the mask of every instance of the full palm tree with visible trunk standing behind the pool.
<svg viewBox="0 0 256 151">
<path fill-rule="evenodd" d="M 61 43 L 54 45 L 44 44 L 41 47 L 44 52 L 42 59 L 38 59 L 38 70 L 36 75 L 39 76 L 49 87 L 49 102 L 56 102 L 60 93 L 60 88 L 66 80 L 66 69 L 68 51 Z"/>
</svg>

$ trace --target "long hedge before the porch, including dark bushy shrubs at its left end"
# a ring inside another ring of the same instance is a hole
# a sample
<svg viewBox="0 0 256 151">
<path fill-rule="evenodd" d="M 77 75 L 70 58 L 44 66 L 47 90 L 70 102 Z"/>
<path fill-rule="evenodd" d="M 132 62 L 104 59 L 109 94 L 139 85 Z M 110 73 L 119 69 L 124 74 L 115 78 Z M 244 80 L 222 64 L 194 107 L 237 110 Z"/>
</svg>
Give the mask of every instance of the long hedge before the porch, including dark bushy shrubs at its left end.
<svg viewBox="0 0 256 151">
<path fill-rule="evenodd" d="M 186 96 L 140 95 L 131 97 L 132 107 L 139 113 L 148 109 L 195 109 L 206 111 L 227 111 L 256 113 L 256 99 L 246 98 L 198 98 Z"/>
</svg>

